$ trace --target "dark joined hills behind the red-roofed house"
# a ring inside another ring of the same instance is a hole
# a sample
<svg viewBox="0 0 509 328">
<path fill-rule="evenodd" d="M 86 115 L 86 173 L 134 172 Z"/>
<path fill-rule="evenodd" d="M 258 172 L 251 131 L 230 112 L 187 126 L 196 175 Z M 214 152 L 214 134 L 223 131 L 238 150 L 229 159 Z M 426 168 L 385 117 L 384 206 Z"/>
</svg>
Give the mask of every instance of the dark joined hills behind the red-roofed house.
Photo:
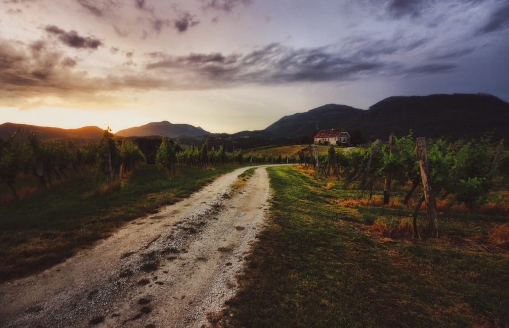
<svg viewBox="0 0 509 328">
<path fill-rule="evenodd" d="M 509 138 L 509 104 L 486 94 L 389 97 L 370 109 L 329 104 L 280 118 L 264 130 L 239 132 L 238 136 L 264 138 L 312 137 L 319 130 L 343 128 L 368 140 L 385 139 L 412 130 L 427 137 L 478 138 L 494 131 Z M 357 138 L 359 138 L 357 136 Z"/>
</svg>

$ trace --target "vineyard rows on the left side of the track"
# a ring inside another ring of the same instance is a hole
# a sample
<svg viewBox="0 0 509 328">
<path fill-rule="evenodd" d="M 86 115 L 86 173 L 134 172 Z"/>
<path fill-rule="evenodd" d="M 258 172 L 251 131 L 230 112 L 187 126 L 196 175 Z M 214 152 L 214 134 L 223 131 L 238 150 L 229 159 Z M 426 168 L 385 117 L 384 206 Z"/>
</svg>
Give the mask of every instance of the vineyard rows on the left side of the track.
<svg viewBox="0 0 509 328">
<path fill-rule="evenodd" d="M 26 134 L 25 140 L 18 141 L 19 134 Z M 109 130 L 104 131 L 99 143 L 89 142 L 79 146 L 71 141 L 41 141 L 31 131 L 18 131 L 10 138 L 0 140 L 0 185 L 10 190 L 13 198 L 19 198 L 18 189 L 23 188 L 23 180 L 27 180 L 27 176 L 36 177 L 39 187 L 25 188 L 23 194 L 46 189 L 54 183 L 67 180 L 70 174 L 80 175 L 99 169 L 105 176 L 104 188 L 115 189 L 136 167 L 148 162 L 148 156 L 153 155 L 150 151 L 144 154 L 141 149 L 131 140 L 116 140 Z M 154 157 L 159 166 L 172 174 L 176 174 L 177 164 L 207 168 L 297 161 L 293 156 L 247 154 L 242 150 L 227 152 L 224 146 L 209 148 L 207 142 L 201 147 L 191 145 L 183 149 L 165 137 L 156 146 Z"/>
</svg>

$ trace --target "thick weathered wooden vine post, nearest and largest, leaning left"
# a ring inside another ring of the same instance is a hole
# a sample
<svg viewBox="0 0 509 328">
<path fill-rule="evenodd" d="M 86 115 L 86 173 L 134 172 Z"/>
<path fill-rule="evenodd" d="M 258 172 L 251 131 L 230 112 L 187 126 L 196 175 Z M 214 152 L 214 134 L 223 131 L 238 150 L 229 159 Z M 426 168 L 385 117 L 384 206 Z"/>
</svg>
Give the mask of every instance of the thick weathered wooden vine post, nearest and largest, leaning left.
<svg viewBox="0 0 509 328">
<path fill-rule="evenodd" d="M 417 154 L 419 156 L 420 177 L 422 179 L 422 191 L 426 200 L 426 217 L 428 218 L 428 235 L 438 237 L 437 205 L 435 195 L 431 189 L 430 168 L 428 166 L 428 152 L 426 149 L 426 137 L 417 138 Z"/>
</svg>

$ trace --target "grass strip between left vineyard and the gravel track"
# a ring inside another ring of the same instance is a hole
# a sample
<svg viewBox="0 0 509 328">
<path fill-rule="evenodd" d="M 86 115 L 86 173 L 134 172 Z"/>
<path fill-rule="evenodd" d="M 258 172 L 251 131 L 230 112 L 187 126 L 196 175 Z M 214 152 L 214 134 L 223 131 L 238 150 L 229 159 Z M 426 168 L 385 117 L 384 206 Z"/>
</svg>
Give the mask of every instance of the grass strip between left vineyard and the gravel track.
<svg viewBox="0 0 509 328">
<path fill-rule="evenodd" d="M 107 193 L 100 191 L 103 174 L 94 171 L 0 204 L 0 281 L 47 269 L 124 222 L 185 198 L 235 168 L 179 166 L 170 177 L 155 165 L 143 165 L 121 190 Z"/>
</svg>

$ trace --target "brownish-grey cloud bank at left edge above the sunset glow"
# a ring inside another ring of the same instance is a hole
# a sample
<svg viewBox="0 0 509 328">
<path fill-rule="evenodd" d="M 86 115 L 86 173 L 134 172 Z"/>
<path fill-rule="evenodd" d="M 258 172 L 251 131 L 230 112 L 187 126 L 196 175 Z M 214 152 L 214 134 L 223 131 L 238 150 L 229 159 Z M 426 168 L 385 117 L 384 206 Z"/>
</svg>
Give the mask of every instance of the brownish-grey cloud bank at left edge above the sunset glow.
<svg viewBox="0 0 509 328">
<path fill-rule="evenodd" d="M 66 56 L 62 51 L 53 51 L 39 45 L 24 45 L 0 38 L 2 104 L 17 106 L 41 95 L 81 97 L 83 101 L 92 101 L 96 95 L 124 88 L 143 90 L 172 85 L 167 79 L 145 74 L 88 77 L 87 72 L 74 70 L 76 59 Z"/>
</svg>

